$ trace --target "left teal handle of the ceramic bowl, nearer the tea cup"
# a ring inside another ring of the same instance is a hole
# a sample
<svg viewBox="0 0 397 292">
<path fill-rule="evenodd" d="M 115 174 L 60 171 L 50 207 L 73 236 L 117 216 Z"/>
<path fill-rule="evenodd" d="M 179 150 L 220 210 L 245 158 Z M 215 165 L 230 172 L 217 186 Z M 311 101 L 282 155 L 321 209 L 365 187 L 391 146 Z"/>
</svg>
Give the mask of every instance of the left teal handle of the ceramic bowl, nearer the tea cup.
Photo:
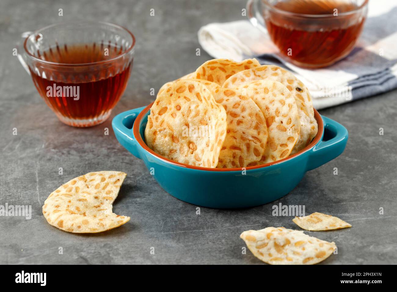
<svg viewBox="0 0 397 292">
<path fill-rule="evenodd" d="M 135 157 L 141 159 L 138 151 L 138 142 L 132 133 L 132 127 L 138 114 L 146 106 L 141 108 L 134 108 L 133 110 L 127 110 L 115 116 L 112 120 L 112 128 L 117 140 L 125 149 L 131 152 Z"/>
</svg>

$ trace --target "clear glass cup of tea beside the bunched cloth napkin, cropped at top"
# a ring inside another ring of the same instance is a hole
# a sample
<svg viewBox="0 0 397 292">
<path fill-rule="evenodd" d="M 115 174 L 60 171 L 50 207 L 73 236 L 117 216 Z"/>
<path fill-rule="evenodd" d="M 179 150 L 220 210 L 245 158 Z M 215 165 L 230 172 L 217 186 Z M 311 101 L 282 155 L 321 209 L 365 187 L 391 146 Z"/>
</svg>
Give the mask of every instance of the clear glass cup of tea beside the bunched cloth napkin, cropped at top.
<svg viewBox="0 0 397 292">
<path fill-rule="evenodd" d="M 294 65 L 321 68 L 354 48 L 368 0 L 249 0 L 251 23 L 266 33 Z"/>
</svg>

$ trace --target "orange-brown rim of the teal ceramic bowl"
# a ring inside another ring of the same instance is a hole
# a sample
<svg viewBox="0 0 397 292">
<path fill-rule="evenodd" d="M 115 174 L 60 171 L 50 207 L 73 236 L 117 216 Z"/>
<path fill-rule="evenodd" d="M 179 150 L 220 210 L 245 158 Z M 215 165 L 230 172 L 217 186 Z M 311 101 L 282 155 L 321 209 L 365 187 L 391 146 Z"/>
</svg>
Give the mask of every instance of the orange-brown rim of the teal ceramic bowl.
<svg viewBox="0 0 397 292">
<path fill-rule="evenodd" d="M 239 171 L 241 172 L 241 170 L 243 169 L 242 167 L 236 167 L 236 168 L 209 168 L 209 167 L 202 167 L 202 166 L 194 166 L 194 165 L 189 165 L 189 164 L 185 164 L 185 163 L 181 163 L 181 162 L 176 162 L 173 161 L 171 159 L 168 159 L 166 157 L 161 156 L 160 154 L 154 152 L 152 149 L 150 149 L 148 147 L 148 145 L 146 145 L 146 143 L 143 141 L 143 138 L 141 136 L 141 132 L 139 131 L 140 128 L 140 124 L 141 124 L 141 120 L 143 118 L 143 116 L 145 116 L 145 114 L 150 110 L 150 108 L 152 107 L 152 105 L 154 104 L 154 102 L 152 102 L 151 104 L 149 104 L 148 106 L 146 106 L 146 108 L 144 108 L 137 116 L 137 118 L 135 119 L 135 122 L 133 124 L 133 135 L 136 139 L 136 141 L 139 143 L 139 145 L 141 145 L 141 147 L 147 151 L 148 153 L 150 153 L 151 155 L 153 155 L 154 157 L 162 160 L 163 162 L 167 162 L 176 166 L 182 166 L 184 168 L 190 168 L 190 169 L 195 169 L 195 170 L 206 170 L 206 171 L 223 171 L 223 172 L 227 172 L 227 171 Z M 254 165 L 254 166 L 246 166 L 245 170 L 252 170 L 252 169 L 257 169 L 257 168 L 264 168 L 266 166 L 270 166 L 270 165 L 274 165 L 274 164 L 278 164 L 290 159 L 293 159 L 295 157 L 297 157 L 298 155 L 301 155 L 307 151 L 309 151 L 310 149 L 312 149 L 314 147 L 314 145 L 316 145 L 323 133 L 324 133 L 324 122 L 321 118 L 321 115 L 318 113 L 318 111 L 313 108 L 314 110 L 314 118 L 317 121 L 318 124 L 318 130 L 316 136 L 313 138 L 313 140 L 309 143 L 309 145 L 307 145 L 306 147 L 304 147 L 302 150 L 298 151 L 297 153 L 290 155 L 288 157 L 285 157 L 283 159 L 280 159 L 278 161 L 274 161 L 274 162 L 269 162 L 266 164 L 260 164 L 260 165 Z"/>
</svg>

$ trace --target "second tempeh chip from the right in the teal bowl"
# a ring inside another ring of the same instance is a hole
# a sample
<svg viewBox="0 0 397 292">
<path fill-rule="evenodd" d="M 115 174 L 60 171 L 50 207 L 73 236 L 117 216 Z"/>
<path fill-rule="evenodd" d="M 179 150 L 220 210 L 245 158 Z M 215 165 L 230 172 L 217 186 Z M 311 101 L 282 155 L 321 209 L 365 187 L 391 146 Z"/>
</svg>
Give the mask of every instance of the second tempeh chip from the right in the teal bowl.
<svg viewBox="0 0 397 292">
<path fill-rule="evenodd" d="M 266 118 L 269 137 L 260 164 L 288 157 L 299 138 L 301 124 L 295 99 L 283 84 L 258 80 L 240 88 L 251 98 Z"/>
</svg>

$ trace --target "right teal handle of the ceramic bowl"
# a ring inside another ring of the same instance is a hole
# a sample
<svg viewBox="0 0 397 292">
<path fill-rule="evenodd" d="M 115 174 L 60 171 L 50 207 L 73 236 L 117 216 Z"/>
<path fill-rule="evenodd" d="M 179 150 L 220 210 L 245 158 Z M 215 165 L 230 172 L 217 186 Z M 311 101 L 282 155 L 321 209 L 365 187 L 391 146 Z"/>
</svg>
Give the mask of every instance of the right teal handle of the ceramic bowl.
<svg viewBox="0 0 397 292">
<path fill-rule="evenodd" d="M 319 143 L 310 149 L 306 171 L 312 170 L 338 157 L 345 150 L 348 133 L 341 124 L 321 116 L 324 121 L 324 134 Z"/>
</svg>

